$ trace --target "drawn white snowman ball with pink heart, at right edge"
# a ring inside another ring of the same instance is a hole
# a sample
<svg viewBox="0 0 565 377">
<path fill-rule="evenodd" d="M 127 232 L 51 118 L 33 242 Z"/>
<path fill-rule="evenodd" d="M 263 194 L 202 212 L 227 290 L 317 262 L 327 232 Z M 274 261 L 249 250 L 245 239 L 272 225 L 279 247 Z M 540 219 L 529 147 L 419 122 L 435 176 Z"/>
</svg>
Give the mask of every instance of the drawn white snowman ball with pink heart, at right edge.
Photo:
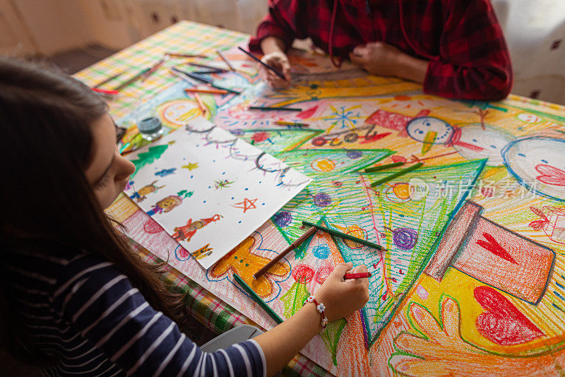
<svg viewBox="0 0 565 377">
<path fill-rule="evenodd" d="M 504 165 L 530 191 L 565 201 L 565 140 L 534 136 L 502 150 Z"/>
</svg>

